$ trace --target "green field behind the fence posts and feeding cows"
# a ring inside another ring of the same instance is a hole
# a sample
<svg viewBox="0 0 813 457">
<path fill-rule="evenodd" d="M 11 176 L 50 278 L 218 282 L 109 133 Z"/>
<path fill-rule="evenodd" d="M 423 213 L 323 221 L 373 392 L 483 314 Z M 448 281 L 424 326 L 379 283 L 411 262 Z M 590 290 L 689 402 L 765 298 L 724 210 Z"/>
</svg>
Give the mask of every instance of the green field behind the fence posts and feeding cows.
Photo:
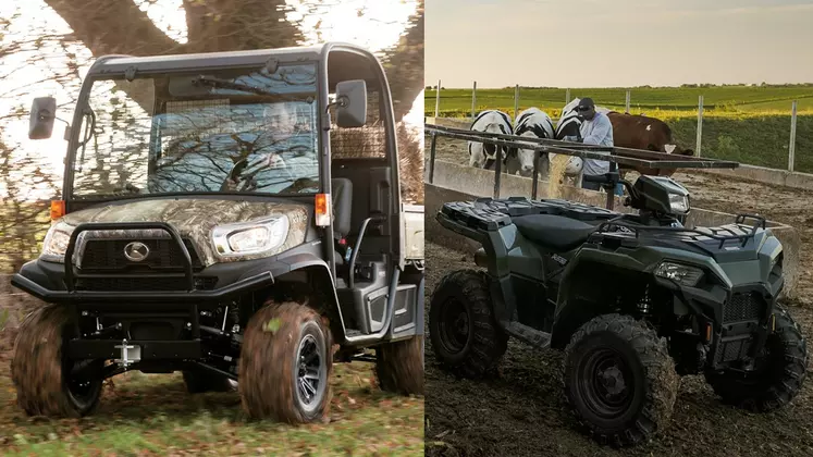
<svg viewBox="0 0 813 457">
<path fill-rule="evenodd" d="M 596 104 L 624 110 L 625 88 L 574 88 L 570 97 L 592 97 Z M 798 100 L 794 170 L 813 173 L 813 85 L 713 86 L 630 89 L 630 112 L 669 124 L 682 147 L 694 148 L 698 97 L 703 96 L 702 156 L 787 170 L 790 108 Z M 426 91 L 426 115 L 433 116 L 435 89 Z M 566 90 L 519 89 L 520 111 L 538 107 L 554 119 L 565 104 Z M 478 89 L 477 111 L 500 109 L 512 116 L 514 88 Z M 471 89 L 441 89 L 440 116 L 471 115 Z"/>
</svg>

